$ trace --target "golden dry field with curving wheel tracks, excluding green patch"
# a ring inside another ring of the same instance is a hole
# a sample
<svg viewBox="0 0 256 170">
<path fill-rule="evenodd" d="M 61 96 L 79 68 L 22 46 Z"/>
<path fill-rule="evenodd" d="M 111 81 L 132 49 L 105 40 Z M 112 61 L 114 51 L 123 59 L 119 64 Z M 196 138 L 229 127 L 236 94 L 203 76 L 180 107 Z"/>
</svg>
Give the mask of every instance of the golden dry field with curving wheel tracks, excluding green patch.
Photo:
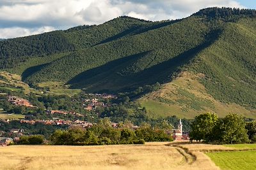
<svg viewBox="0 0 256 170">
<path fill-rule="evenodd" d="M 0 169 L 219 169 L 204 153 L 168 143 L 8 146 L 0 155 Z"/>
</svg>

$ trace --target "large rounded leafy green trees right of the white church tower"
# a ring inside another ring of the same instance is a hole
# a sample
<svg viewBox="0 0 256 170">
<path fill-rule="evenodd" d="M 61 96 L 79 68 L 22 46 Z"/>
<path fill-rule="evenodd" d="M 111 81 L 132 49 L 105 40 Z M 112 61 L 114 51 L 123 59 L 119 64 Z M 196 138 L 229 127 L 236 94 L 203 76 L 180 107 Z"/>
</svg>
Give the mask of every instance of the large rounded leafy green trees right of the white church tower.
<svg viewBox="0 0 256 170">
<path fill-rule="evenodd" d="M 207 143 L 254 143 L 256 142 L 256 122 L 246 122 L 241 115 L 230 113 L 219 118 L 214 113 L 204 113 L 191 125 L 191 141 Z"/>
</svg>

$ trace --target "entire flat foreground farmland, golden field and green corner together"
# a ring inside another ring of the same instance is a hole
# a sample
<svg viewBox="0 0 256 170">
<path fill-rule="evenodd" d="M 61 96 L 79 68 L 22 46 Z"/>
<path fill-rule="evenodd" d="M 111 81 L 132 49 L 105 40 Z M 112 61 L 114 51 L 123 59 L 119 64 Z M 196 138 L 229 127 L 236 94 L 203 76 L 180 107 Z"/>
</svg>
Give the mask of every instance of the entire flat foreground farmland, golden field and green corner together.
<svg viewBox="0 0 256 170">
<path fill-rule="evenodd" d="M 0 164 L 1 169 L 253 169 L 255 148 L 187 143 L 16 145 L 0 147 Z"/>
</svg>

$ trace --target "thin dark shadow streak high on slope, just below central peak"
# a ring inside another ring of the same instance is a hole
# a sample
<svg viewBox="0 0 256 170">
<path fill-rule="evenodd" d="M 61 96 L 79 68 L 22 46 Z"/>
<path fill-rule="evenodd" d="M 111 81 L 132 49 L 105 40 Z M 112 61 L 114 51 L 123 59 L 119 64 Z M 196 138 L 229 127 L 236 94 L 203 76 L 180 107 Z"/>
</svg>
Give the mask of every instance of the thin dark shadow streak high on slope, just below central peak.
<svg viewBox="0 0 256 170">
<path fill-rule="evenodd" d="M 131 35 L 134 36 L 136 34 L 141 34 L 143 32 L 147 32 L 147 31 L 150 31 L 150 30 L 159 29 L 159 28 L 165 27 L 167 25 L 172 25 L 172 24 L 174 24 L 176 22 L 179 22 L 180 20 L 170 20 L 170 21 L 166 21 L 166 22 L 161 22 L 159 24 L 152 25 L 150 27 L 134 26 L 134 27 L 132 27 L 130 29 L 127 29 L 127 30 L 125 30 L 123 32 L 120 32 L 119 34 L 116 34 L 115 36 L 111 36 L 110 38 L 107 38 L 107 39 L 101 41 L 97 45 L 100 45 L 100 44 L 103 44 L 103 43 L 108 43 L 110 41 L 113 41 L 113 40 L 116 40 L 116 39 L 120 39 L 120 38 L 123 38 L 125 36 L 131 36 Z"/>
</svg>

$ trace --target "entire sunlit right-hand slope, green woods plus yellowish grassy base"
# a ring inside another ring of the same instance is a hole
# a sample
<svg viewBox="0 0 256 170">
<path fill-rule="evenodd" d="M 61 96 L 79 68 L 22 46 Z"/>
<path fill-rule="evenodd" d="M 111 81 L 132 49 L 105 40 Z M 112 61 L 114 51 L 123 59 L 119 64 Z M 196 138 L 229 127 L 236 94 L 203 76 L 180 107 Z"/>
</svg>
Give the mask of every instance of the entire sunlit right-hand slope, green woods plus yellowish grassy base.
<svg viewBox="0 0 256 170">
<path fill-rule="evenodd" d="M 163 89 L 141 98 L 143 106 L 161 115 L 194 117 L 212 111 L 256 115 L 256 22 L 228 22 L 214 43 L 198 53 L 186 69 Z M 161 111 L 160 111 L 161 112 Z"/>
</svg>

